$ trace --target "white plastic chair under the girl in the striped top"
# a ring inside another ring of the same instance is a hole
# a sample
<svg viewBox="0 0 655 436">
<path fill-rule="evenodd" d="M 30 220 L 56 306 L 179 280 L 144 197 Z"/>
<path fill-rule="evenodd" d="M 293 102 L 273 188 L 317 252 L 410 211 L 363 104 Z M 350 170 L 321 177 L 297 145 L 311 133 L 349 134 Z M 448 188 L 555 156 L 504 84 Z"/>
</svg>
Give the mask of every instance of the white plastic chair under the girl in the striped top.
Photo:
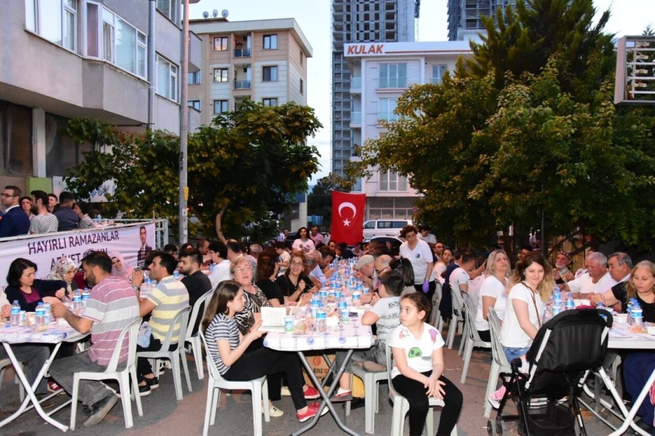
<svg viewBox="0 0 655 436">
<path fill-rule="evenodd" d="M 244 382 L 229 382 L 225 380 L 218 372 L 214 359 L 207 347 L 207 340 L 202 331 L 198 332 L 202 342 L 205 346 L 205 354 L 207 355 L 207 370 L 209 373 L 209 385 L 207 387 L 207 405 L 205 409 L 205 421 L 202 427 L 202 436 L 207 436 L 209 426 L 213 426 L 216 420 L 216 410 L 218 409 L 218 402 L 221 399 L 221 389 L 245 389 L 252 391 L 252 420 L 255 436 L 261 436 L 261 413 L 264 412 L 264 420 L 271 421 L 269 414 L 269 387 L 266 376 L 255 378 L 255 380 L 248 380 Z M 218 392 L 216 392 L 218 391 Z M 263 408 L 262 408 L 263 403 Z"/>
</svg>

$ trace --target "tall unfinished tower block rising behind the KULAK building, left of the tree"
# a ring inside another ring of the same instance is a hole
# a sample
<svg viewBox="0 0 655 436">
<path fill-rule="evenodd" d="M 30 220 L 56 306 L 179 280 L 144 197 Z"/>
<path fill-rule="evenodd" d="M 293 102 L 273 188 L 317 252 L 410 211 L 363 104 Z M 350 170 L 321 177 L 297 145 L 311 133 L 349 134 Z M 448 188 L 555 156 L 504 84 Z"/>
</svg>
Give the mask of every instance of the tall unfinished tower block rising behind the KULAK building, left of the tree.
<svg viewBox="0 0 655 436">
<path fill-rule="evenodd" d="M 343 169 L 361 145 L 350 130 L 351 101 L 348 43 L 392 43 L 415 40 L 420 0 L 332 0 L 332 171 Z"/>
</svg>

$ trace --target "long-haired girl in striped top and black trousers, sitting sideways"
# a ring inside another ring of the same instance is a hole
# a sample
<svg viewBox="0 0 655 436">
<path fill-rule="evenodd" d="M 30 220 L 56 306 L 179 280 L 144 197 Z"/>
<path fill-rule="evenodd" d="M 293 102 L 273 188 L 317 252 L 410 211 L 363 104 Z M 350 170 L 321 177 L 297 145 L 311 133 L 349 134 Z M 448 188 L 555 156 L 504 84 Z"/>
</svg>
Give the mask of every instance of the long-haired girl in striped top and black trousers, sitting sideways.
<svg viewBox="0 0 655 436">
<path fill-rule="evenodd" d="M 207 348 L 218 372 L 225 380 L 231 381 L 253 380 L 284 372 L 296 417 L 300 422 L 309 420 L 318 412 L 318 404 L 307 405 L 305 401 L 303 373 L 297 355 L 265 347 L 246 352 L 248 346 L 264 333 L 259 331 L 261 319 L 255 321 L 246 335 L 239 332 L 234 314 L 243 310 L 245 304 L 244 290 L 239 283 L 225 280 L 219 283 L 202 319 Z M 324 408 L 321 414 L 326 412 L 327 408 Z"/>
</svg>

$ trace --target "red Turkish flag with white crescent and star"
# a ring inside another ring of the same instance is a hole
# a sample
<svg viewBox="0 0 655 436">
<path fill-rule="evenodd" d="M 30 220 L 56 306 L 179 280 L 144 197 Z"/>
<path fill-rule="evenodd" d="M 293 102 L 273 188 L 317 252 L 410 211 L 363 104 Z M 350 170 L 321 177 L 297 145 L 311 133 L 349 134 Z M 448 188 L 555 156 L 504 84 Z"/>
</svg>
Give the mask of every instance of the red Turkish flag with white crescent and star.
<svg viewBox="0 0 655 436">
<path fill-rule="evenodd" d="M 354 245 L 362 242 L 366 194 L 332 191 L 330 240 Z"/>
</svg>

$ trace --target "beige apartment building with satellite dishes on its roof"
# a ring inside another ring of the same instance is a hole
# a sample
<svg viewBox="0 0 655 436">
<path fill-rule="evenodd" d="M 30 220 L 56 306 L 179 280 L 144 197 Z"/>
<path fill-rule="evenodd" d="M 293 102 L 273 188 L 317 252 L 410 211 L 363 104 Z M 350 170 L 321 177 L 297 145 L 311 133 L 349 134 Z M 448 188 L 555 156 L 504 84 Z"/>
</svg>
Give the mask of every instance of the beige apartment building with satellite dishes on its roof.
<svg viewBox="0 0 655 436">
<path fill-rule="evenodd" d="M 312 47 L 293 18 L 229 22 L 191 20 L 202 41 L 201 68 L 189 73 L 189 107 L 202 124 L 244 100 L 307 105 L 307 59 Z"/>
</svg>

